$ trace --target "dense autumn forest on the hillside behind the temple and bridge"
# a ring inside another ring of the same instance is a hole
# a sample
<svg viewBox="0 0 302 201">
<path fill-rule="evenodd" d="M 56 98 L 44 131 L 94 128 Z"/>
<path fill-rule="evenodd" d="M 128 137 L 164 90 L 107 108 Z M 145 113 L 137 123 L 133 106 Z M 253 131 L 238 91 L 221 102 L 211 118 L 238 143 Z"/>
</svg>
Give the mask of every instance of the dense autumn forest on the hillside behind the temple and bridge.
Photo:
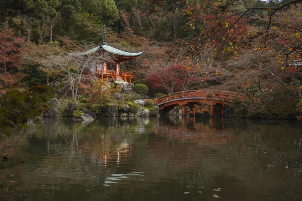
<svg viewBox="0 0 302 201">
<path fill-rule="evenodd" d="M 108 55 L 65 52 L 107 42 L 144 51 L 122 64 L 149 96 L 181 90 L 248 94 L 236 106 L 246 117 L 297 116 L 302 83 L 302 1 L 254 0 L 2 0 L 0 85 L 63 85 L 58 96 L 79 99 L 82 75 Z"/>
</svg>

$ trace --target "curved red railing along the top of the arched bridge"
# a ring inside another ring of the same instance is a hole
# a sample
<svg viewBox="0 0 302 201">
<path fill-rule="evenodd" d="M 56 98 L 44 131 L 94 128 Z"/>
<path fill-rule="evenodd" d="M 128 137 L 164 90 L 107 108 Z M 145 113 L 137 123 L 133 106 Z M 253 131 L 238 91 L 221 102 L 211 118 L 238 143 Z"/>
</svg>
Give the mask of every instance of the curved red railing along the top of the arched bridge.
<svg viewBox="0 0 302 201">
<path fill-rule="evenodd" d="M 244 93 L 236 93 L 232 91 L 207 91 L 207 90 L 190 90 L 190 91 L 180 91 L 176 93 L 171 93 L 164 95 L 162 97 L 156 98 L 154 104 L 162 104 L 166 102 L 171 102 L 172 100 L 182 99 L 182 98 L 219 98 L 223 100 L 232 101 L 236 98 L 244 100 L 246 95 Z"/>
</svg>

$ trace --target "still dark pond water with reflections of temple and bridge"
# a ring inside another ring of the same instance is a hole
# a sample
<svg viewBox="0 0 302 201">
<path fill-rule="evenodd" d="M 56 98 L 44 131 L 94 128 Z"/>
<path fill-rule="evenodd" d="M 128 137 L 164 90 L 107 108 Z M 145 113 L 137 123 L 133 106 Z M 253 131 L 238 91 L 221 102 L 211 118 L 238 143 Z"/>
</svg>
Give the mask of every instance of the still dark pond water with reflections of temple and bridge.
<svg viewBox="0 0 302 201">
<path fill-rule="evenodd" d="M 1 155 L 0 200 L 302 200 L 302 125 L 214 118 L 34 122 Z"/>
</svg>

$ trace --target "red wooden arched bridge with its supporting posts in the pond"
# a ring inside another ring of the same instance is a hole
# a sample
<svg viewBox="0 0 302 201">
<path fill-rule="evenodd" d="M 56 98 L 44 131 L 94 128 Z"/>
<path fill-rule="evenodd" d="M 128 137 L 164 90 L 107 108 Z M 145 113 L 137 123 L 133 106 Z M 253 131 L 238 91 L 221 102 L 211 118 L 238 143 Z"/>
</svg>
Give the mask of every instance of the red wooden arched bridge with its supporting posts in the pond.
<svg viewBox="0 0 302 201">
<path fill-rule="evenodd" d="M 214 115 L 214 106 L 219 107 L 219 114 L 223 114 L 223 105 L 229 105 L 235 101 L 244 100 L 246 95 L 244 93 L 236 93 L 232 91 L 207 91 L 207 90 L 190 90 L 171 93 L 154 99 L 154 104 L 160 107 L 161 110 L 171 109 L 175 106 L 182 106 L 182 115 L 191 113 L 195 115 L 194 107 L 198 103 L 208 102 L 211 104 L 210 116 Z M 189 107 L 190 111 L 186 111 L 185 107 Z"/>
</svg>

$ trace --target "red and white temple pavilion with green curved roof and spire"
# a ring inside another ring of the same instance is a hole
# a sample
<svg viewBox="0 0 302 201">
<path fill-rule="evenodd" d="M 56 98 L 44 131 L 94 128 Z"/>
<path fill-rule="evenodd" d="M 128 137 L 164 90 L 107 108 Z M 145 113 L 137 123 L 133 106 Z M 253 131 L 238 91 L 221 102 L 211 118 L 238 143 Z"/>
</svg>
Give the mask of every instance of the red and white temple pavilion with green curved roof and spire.
<svg viewBox="0 0 302 201">
<path fill-rule="evenodd" d="M 84 74 L 93 74 L 99 78 L 113 78 L 115 82 L 129 82 L 131 83 L 131 73 L 124 72 L 120 69 L 120 63 L 123 61 L 129 61 L 135 59 L 136 57 L 140 56 L 143 52 L 138 53 L 131 53 L 125 52 L 114 47 L 109 46 L 106 43 L 106 26 L 104 25 L 104 32 L 103 32 L 103 43 L 102 45 L 95 47 L 91 50 L 87 50 L 84 52 L 79 53 L 67 53 L 69 55 L 74 56 L 85 56 L 88 54 L 92 54 L 95 52 L 104 53 L 107 52 L 112 57 L 115 63 L 109 63 L 107 61 L 103 61 L 102 64 L 98 63 L 91 63 L 90 69 L 84 71 Z"/>
</svg>

